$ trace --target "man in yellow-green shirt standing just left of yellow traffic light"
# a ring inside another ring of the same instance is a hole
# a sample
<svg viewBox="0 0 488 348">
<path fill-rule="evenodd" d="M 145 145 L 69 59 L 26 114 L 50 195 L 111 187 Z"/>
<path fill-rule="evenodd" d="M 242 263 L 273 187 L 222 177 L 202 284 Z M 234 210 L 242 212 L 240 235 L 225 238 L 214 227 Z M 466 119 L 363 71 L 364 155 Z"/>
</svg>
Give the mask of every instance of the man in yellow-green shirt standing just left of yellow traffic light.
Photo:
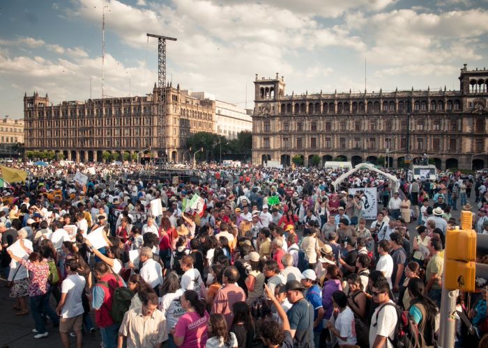
<svg viewBox="0 0 488 348">
<path fill-rule="evenodd" d="M 432 258 L 425 269 L 425 280 L 427 281 L 425 294 L 440 308 L 442 272 L 444 269 L 444 259 L 439 255 L 439 252 L 442 250 L 442 242 L 438 237 L 432 237 L 427 248 Z"/>
</svg>

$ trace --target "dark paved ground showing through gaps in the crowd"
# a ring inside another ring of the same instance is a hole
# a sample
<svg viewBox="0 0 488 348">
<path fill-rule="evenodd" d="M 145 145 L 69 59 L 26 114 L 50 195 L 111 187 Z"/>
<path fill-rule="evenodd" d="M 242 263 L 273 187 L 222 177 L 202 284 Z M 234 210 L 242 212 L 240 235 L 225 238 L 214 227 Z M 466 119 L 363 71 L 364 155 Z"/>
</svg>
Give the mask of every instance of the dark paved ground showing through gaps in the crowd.
<svg viewBox="0 0 488 348">
<path fill-rule="evenodd" d="M 475 206 L 474 195 L 471 196 L 469 202 L 471 205 Z M 458 207 L 457 211 L 452 212 L 452 215 L 457 220 L 459 219 L 459 208 L 460 207 Z M 417 226 L 416 223 L 409 224 L 409 230 L 411 233 L 413 231 L 411 237 L 415 236 L 415 226 Z M 34 323 L 31 315 L 24 315 L 23 317 L 15 316 L 15 310 L 12 308 L 14 301 L 8 296 L 9 289 L 4 286 L 5 282 L 0 280 L 0 348 L 61 347 L 59 331 L 58 329 L 53 328 L 50 323 L 47 324 L 47 330 L 49 331 L 49 336 L 47 336 L 47 338 L 42 338 L 40 340 L 35 340 L 33 338 L 32 329 Z M 54 302 L 52 303 L 52 308 L 54 308 Z M 92 319 L 93 322 L 95 322 L 95 318 Z M 75 338 L 70 338 L 70 340 L 74 347 Z M 88 333 L 84 337 L 83 346 L 86 348 L 100 347 L 100 341 L 100 331 L 93 333 L 93 335 Z"/>
</svg>

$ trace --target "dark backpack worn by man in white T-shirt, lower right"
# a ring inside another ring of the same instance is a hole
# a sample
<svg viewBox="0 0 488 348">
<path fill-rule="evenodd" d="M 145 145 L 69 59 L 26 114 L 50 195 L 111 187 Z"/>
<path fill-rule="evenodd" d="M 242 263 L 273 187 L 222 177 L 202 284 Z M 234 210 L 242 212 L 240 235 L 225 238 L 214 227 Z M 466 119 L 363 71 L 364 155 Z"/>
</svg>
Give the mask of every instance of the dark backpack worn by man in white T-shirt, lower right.
<svg viewBox="0 0 488 348">
<path fill-rule="evenodd" d="M 395 348 L 422 348 L 425 347 L 424 336 L 418 331 L 417 325 L 409 319 L 408 313 L 402 311 L 399 306 L 393 303 L 383 304 L 376 312 L 376 324 L 380 311 L 385 306 L 393 306 L 397 311 L 397 325 L 395 326 L 393 339 L 388 336 L 388 340 Z M 376 326 L 374 324 L 374 326 Z"/>
</svg>

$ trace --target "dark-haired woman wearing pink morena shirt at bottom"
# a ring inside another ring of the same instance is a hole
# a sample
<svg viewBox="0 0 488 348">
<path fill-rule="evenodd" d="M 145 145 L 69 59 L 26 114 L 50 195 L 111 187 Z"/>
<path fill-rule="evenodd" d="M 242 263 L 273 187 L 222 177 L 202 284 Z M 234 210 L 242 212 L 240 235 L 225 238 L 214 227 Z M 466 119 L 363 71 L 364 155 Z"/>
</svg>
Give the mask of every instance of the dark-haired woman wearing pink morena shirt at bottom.
<svg viewBox="0 0 488 348">
<path fill-rule="evenodd" d="M 205 303 L 200 301 L 194 290 L 186 290 L 181 296 L 181 307 L 185 310 L 170 333 L 174 344 L 183 348 L 204 348 L 207 342 L 207 322 L 209 315 Z"/>
</svg>

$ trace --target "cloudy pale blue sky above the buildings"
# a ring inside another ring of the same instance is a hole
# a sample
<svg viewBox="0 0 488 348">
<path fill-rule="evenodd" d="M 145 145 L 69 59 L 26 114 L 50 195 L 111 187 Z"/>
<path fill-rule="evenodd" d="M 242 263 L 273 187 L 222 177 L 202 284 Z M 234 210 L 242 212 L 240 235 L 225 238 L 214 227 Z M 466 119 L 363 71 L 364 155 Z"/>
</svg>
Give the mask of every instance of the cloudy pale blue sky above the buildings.
<svg viewBox="0 0 488 348">
<path fill-rule="evenodd" d="M 488 0 L 0 1 L 0 117 L 24 93 L 63 100 L 151 93 L 167 35 L 167 80 L 254 107 L 255 74 L 285 94 L 459 90 L 488 66 Z"/>
</svg>

